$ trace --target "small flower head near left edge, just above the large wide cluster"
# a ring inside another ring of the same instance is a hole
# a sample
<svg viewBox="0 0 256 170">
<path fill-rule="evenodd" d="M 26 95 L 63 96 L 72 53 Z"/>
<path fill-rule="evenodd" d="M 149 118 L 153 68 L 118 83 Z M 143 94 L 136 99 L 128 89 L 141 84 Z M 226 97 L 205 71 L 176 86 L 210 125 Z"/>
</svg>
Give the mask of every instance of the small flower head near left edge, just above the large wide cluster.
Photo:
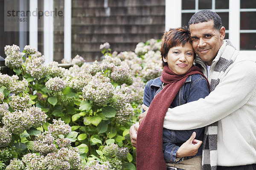
<svg viewBox="0 0 256 170">
<path fill-rule="evenodd" d="M 12 95 L 12 100 L 9 102 L 9 105 L 15 111 L 24 111 L 31 106 L 31 104 L 29 104 L 29 101 L 30 97 L 28 94 L 23 93 L 23 97 Z"/>
</svg>

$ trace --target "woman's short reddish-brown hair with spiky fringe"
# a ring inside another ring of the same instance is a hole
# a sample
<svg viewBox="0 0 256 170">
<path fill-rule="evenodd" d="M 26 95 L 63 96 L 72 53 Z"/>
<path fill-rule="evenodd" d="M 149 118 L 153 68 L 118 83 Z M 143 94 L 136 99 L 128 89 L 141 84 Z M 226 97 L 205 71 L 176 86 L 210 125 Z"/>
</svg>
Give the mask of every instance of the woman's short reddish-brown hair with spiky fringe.
<svg viewBox="0 0 256 170">
<path fill-rule="evenodd" d="M 190 32 L 187 26 L 183 26 L 180 28 L 170 28 L 169 31 L 165 31 L 162 37 L 162 46 L 160 49 L 163 66 L 167 65 L 167 62 L 163 61 L 163 58 L 167 57 L 167 54 L 172 47 L 176 47 L 179 45 L 184 46 L 187 42 L 192 44 L 192 40 L 190 37 Z M 194 59 L 195 59 L 194 52 Z"/>
</svg>

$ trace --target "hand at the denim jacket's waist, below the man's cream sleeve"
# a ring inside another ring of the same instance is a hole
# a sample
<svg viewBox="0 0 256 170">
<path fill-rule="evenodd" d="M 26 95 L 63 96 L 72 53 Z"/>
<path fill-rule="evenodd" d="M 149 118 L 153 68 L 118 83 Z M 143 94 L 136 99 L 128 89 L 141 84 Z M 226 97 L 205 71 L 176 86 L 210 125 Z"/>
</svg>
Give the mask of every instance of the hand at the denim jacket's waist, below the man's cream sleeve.
<svg viewBox="0 0 256 170">
<path fill-rule="evenodd" d="M 193 132 L 191 137 L 180 146 L 179 150 L 176 153 L 177 158 L 181 158 L 184 156 L 195 156 L 195 154 L 198 153 L 198 148 L 203 142 L 195 139 L 195 136 L 196 133 Z"/>
</svg>

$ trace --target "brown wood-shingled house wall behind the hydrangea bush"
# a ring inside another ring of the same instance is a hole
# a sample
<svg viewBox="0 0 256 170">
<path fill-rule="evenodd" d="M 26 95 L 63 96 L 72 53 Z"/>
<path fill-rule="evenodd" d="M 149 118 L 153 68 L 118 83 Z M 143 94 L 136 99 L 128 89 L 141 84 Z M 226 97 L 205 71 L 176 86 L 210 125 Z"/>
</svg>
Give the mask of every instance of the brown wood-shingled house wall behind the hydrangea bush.
<svg viewBox="0 0 256 170">
<path fill-rule="evenodd" d="M 63 4 L 55 0 L 56 7 Z M 54 24 L 64 22 L 58 18 Z M 72 58 L 79 54 L 86 61 L 99 60 L 104 42 L 112 51 L 134 51 L 138 42 L 160 39 L 164 30 L 165 0 L 72 0 Z M 63 31 L 55 32 L 55 61 L 64 56 L 63 42 Z"/>
</svg>

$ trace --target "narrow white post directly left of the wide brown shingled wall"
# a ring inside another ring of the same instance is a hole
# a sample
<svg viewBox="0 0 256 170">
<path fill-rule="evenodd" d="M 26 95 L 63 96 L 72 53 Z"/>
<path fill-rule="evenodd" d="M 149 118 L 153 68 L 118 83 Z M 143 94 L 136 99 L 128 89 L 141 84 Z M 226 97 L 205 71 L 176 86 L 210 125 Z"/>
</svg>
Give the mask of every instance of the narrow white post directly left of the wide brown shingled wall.
<svg viewBox="0 0 256 170">
<path fill-rule="evenodd" d="M 71 0 L 64 1 L 64 59 L 71 61 Z"/>
</svg>

